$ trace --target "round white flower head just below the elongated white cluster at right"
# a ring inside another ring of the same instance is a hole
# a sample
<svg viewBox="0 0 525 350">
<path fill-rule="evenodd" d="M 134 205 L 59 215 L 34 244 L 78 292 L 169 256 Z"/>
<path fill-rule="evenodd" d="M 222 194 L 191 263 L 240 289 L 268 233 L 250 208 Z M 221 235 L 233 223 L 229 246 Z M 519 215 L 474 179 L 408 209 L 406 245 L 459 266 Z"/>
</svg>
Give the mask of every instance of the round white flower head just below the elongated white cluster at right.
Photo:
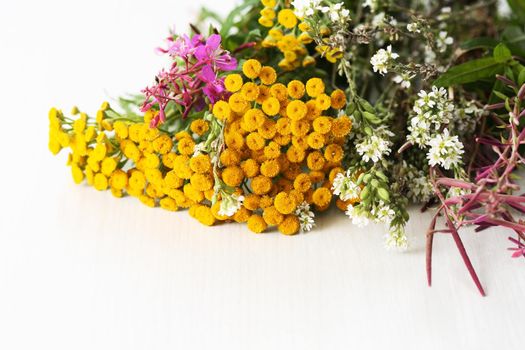
<svg viewBox="0 0 525 350">
<path fill-rule="evenodd" d="M 457 136 L 451 136 L 448 129 L 443 130 L 441 135 L 435 135 L 428 146 L 427 158 L 431 166 L 441 165 L 448 170 L 461 162 L 463 144 Z"/>
</svg>

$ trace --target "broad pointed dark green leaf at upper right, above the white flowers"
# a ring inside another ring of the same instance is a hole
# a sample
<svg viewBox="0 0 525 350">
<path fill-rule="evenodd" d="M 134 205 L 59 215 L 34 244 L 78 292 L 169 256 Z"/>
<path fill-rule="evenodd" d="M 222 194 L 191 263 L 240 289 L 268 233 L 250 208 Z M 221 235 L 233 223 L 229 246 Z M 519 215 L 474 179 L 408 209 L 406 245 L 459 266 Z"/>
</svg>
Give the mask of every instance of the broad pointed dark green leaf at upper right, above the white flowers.
<svg viewBox="0 0 525 350">
<path fill-rule="evenodd" d="M 472 83 L 501 73 L 503 65 L 494 57 L 485 57 L 454 66 L 434 81 L 434 85 L 448 87 Z"/>
</svg>

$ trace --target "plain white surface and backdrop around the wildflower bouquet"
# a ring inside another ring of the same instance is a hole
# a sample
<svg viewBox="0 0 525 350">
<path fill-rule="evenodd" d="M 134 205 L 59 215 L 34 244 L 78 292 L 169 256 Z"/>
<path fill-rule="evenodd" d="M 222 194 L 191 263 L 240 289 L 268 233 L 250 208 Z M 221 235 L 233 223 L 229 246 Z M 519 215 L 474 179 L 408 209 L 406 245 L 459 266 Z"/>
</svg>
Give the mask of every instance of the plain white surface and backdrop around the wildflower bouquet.
<svg viewBox="0 0 525 350">
<path fill-rule="evenodd" d="M 2 4 L 0 349 L 523 348 L 525 262 L 507 231 L 463 234 L 482 298 L 447 236 L 426 286 L 416 211 L 396 253 L 336 211 L 309 234 L 254 235 L 73 184 L 47 151 L 49 107 L 139 91 L 202 2 Z"/>
</svg>

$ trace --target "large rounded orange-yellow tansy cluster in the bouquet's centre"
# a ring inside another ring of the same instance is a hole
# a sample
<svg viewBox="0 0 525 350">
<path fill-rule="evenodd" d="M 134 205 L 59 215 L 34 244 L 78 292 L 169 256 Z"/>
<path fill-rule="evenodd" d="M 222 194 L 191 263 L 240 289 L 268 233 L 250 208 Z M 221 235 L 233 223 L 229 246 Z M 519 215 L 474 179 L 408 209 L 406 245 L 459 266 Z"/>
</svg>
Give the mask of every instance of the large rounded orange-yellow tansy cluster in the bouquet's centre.
<svg viewBox="0 0 525 350">
<path fill-rule="evenodd" d="M 327 94 L 319 78 L 275 83 L 274 69 L 257 60 L 246 61 L 242 71 L 246 81 L 227 76 L 232 95 L 213 107 L 225 125 L 219 176 L 244 195 L 236 221 L 257 233 L 277 226 L 295 234 L 300 204 L 323 211 L 332 201 L 330 188 L 343 171 L 343 144 L 352 128 L 341 112 L 346 97 L 341 90 Z"/>
</svg>

